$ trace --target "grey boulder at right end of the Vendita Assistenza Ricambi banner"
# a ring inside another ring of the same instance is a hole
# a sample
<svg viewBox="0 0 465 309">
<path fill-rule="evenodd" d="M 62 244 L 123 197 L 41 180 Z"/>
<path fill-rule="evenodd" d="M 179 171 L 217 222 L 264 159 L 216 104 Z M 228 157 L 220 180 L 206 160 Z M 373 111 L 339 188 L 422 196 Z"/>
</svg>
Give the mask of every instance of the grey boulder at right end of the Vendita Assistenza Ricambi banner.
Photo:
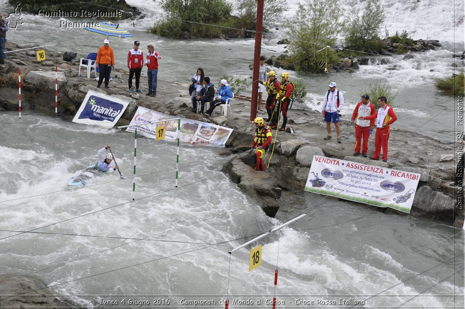
<svg viewBox="0 0 465 309">
<path fill-rule="evenodd" d="M 423 186 L 415 193 L 411 213 L 439 220 L 454 220 L 454 201 L 441 192 Z"/>
</svg>

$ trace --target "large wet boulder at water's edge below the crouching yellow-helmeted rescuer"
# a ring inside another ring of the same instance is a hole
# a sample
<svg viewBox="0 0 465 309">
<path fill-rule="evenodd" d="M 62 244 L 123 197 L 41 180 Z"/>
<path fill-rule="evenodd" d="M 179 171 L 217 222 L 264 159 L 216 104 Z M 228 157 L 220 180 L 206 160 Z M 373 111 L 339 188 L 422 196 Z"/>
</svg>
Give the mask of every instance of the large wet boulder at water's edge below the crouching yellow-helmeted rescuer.
<svg viewBox="0 0 465 309">
<path fill-rule="evenodd" d="M 252 157 L 250 154 L 239 156 L 247 155 Z M 223 166 L 223 172 L 228 174 L 231 181 L 237 183 L 246 195 L 258 202 L 266 215 L 276 215 L 279 209 L 277 199 L 281 196 L 282 189 L 277 186 L 274 175 L 256 171 L 240 160 L 227 162 Z"/>
</svg>

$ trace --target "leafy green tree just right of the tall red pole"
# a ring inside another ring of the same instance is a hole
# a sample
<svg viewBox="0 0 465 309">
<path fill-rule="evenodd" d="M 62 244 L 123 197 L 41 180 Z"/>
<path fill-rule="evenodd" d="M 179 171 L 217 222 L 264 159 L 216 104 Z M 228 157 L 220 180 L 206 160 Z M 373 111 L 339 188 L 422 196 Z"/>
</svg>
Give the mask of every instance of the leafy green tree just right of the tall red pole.
<svg viewBox="0 0 465 309">
<path fill-rule="evenodd" d="M 305 0 L 289 23 L 289 50 L 298 71 L 322 72 L 329 63 L 337 62 L 336 38 L 344 26 L 344 12 L 338 0 Z M 324 49 L 322 51 L 319 51 Z M 320 63 L 320 60 L 323 60 Z"/>
</svg>

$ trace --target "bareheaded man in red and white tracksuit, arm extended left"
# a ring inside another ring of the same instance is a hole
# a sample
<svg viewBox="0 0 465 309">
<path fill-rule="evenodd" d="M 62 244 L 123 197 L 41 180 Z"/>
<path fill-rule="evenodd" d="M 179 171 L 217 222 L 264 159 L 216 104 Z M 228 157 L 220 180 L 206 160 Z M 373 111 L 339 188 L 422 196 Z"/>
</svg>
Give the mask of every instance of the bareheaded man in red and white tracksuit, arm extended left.
<svg viewBox="0 0 465 309">
<path fill-rule="evenodd" d="M 383 148 L 383 162 L 387 162 L 387 141 L 389 140 L 389 132 L 391 131 L 391 125 L 397 120 L 397 116 L 392 110 L 392 107 L 387 105 L 387 99 L 385 96 L 378 98 L 378 114 L 371 116 L 360 116 L 360 120 L 372 120 L 376 119 L 376 135 L 375 135 L 375 153 L 372 156 L 372 160 L 379 160 L 379 154 L 381 153 L 381 147 Z"/>
</svg>

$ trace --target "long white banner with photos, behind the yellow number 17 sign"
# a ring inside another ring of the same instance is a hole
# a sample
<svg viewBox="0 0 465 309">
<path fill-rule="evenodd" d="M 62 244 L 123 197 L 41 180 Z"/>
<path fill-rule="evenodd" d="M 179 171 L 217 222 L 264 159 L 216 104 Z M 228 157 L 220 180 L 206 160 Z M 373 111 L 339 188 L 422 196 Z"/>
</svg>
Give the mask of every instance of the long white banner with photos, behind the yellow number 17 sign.
<svg viewBox="0 0 465 309">
<path fill-rule="evenodd" d="M 165 127 L 165 140 L 175 141 L 178 139 L 178 118 L 156 112 L 145 107 L 138 107 L 134 118 L 129 125 L 146 122 L 146 125 L 128 127 L 126 131 L 134 132 L 146 137 L 157 139 L 157 127 Z M 156 122 L 155 121 L 161 121 Z M 179 140 L 191 145 L 216 145 L 224 147 L 233 129 L 220 127 L 215 124 L 181 118 Z M 152 122 L 152 123 L 150 123 Z"/>
</svg>

